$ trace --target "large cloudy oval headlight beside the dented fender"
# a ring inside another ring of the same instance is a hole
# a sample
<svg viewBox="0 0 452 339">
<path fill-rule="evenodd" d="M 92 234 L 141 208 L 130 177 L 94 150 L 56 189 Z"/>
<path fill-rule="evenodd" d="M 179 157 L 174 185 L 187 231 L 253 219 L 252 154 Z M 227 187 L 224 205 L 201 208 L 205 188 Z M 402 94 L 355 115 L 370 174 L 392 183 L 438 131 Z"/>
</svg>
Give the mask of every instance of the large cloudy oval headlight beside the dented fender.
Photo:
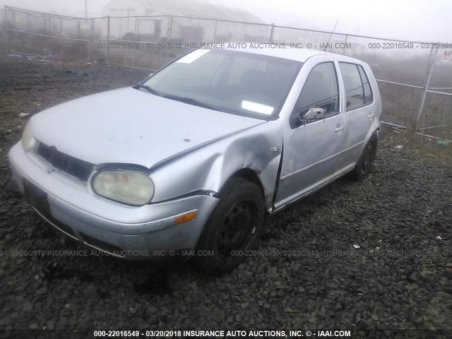
<svg viewBox="0 0 452 339">
<path fill-rule="evenodd" d="M 92 186 L 99 196 L 133 206 L 145 205 L 154 195 L 154 183 L 148 174 L 126 169 L 98 172 Z"/>
</svg>

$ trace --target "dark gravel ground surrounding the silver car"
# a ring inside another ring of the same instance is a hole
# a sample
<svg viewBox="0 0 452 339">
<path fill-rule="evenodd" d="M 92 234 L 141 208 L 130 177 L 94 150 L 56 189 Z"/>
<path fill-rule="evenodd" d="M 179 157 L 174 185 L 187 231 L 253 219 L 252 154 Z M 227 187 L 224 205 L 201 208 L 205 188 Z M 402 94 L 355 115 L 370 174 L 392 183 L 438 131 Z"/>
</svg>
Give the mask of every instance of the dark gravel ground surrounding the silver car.
<svg viewBox="0 0 452 339">
<path fill-rule="evenodd" d="M 20 255 L 83 249 L 15 191 L 7 153 L 30 117 L 20 114 L 147 73 L 0 57 L 0 328 L 452 328 L 451 167 L 397 150 L 391 130 L 367 180 L 340 179 L 268 217 L 260 249 L 274 255 L 221 278 L 190 262 Z"/>
</svg>

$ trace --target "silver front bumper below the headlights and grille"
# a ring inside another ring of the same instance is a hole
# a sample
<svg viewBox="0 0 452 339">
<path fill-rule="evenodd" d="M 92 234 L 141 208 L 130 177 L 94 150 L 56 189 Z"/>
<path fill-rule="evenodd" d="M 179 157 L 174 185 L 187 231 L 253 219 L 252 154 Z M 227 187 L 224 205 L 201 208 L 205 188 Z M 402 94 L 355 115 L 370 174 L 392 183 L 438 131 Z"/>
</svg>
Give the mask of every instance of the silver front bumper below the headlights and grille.
<svg viewBox="0 0 452 339">
<path fill-rule="evenodd" d="M 20 191 L 24 180 L 44 196 L 45 211 L 35 210 L 69 237 L 113 256 L 146 258 L 169 251 L 195 249 L 208 217 L 218 202 L 209 195 L 189 196 L 134 207 L 96 196 L 89 184 L 52 169 L 17 143 L 9 154 Z M 174 218 L 196 211 L 196 218 L 175 225 Z"/>
</svg>

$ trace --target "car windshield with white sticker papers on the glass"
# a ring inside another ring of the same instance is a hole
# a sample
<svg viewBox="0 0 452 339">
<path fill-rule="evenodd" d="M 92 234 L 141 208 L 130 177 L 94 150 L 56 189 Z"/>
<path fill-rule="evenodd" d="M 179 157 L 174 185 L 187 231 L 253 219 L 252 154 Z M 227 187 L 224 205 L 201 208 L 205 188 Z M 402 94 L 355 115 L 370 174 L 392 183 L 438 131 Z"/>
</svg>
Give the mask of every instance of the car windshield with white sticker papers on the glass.
<svg viewBox="0 0 452 339">
<path fill-rule="evenodd" d="M 275 119 L 302 63 L 260 54 L 196 49 L 145 81 L 154 95 L 221 112 Z"/>
</svg>

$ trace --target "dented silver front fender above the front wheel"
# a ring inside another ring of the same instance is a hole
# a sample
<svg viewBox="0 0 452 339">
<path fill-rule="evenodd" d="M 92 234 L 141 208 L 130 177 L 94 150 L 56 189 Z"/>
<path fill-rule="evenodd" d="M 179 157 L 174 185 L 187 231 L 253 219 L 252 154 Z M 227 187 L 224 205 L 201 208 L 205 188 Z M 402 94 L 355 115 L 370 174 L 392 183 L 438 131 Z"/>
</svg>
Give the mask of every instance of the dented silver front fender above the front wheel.
<svg viewBox="0 0 452 339">
<path fill-rule="evenodd" d="M 151 168 L 155 184 L 153 202 L 194 194 L 219 192 L 242 169 L 256 173 L 266 202 L 273 196 L 283 147 L 278 120 L 251 127 Z"/>
</svg>

